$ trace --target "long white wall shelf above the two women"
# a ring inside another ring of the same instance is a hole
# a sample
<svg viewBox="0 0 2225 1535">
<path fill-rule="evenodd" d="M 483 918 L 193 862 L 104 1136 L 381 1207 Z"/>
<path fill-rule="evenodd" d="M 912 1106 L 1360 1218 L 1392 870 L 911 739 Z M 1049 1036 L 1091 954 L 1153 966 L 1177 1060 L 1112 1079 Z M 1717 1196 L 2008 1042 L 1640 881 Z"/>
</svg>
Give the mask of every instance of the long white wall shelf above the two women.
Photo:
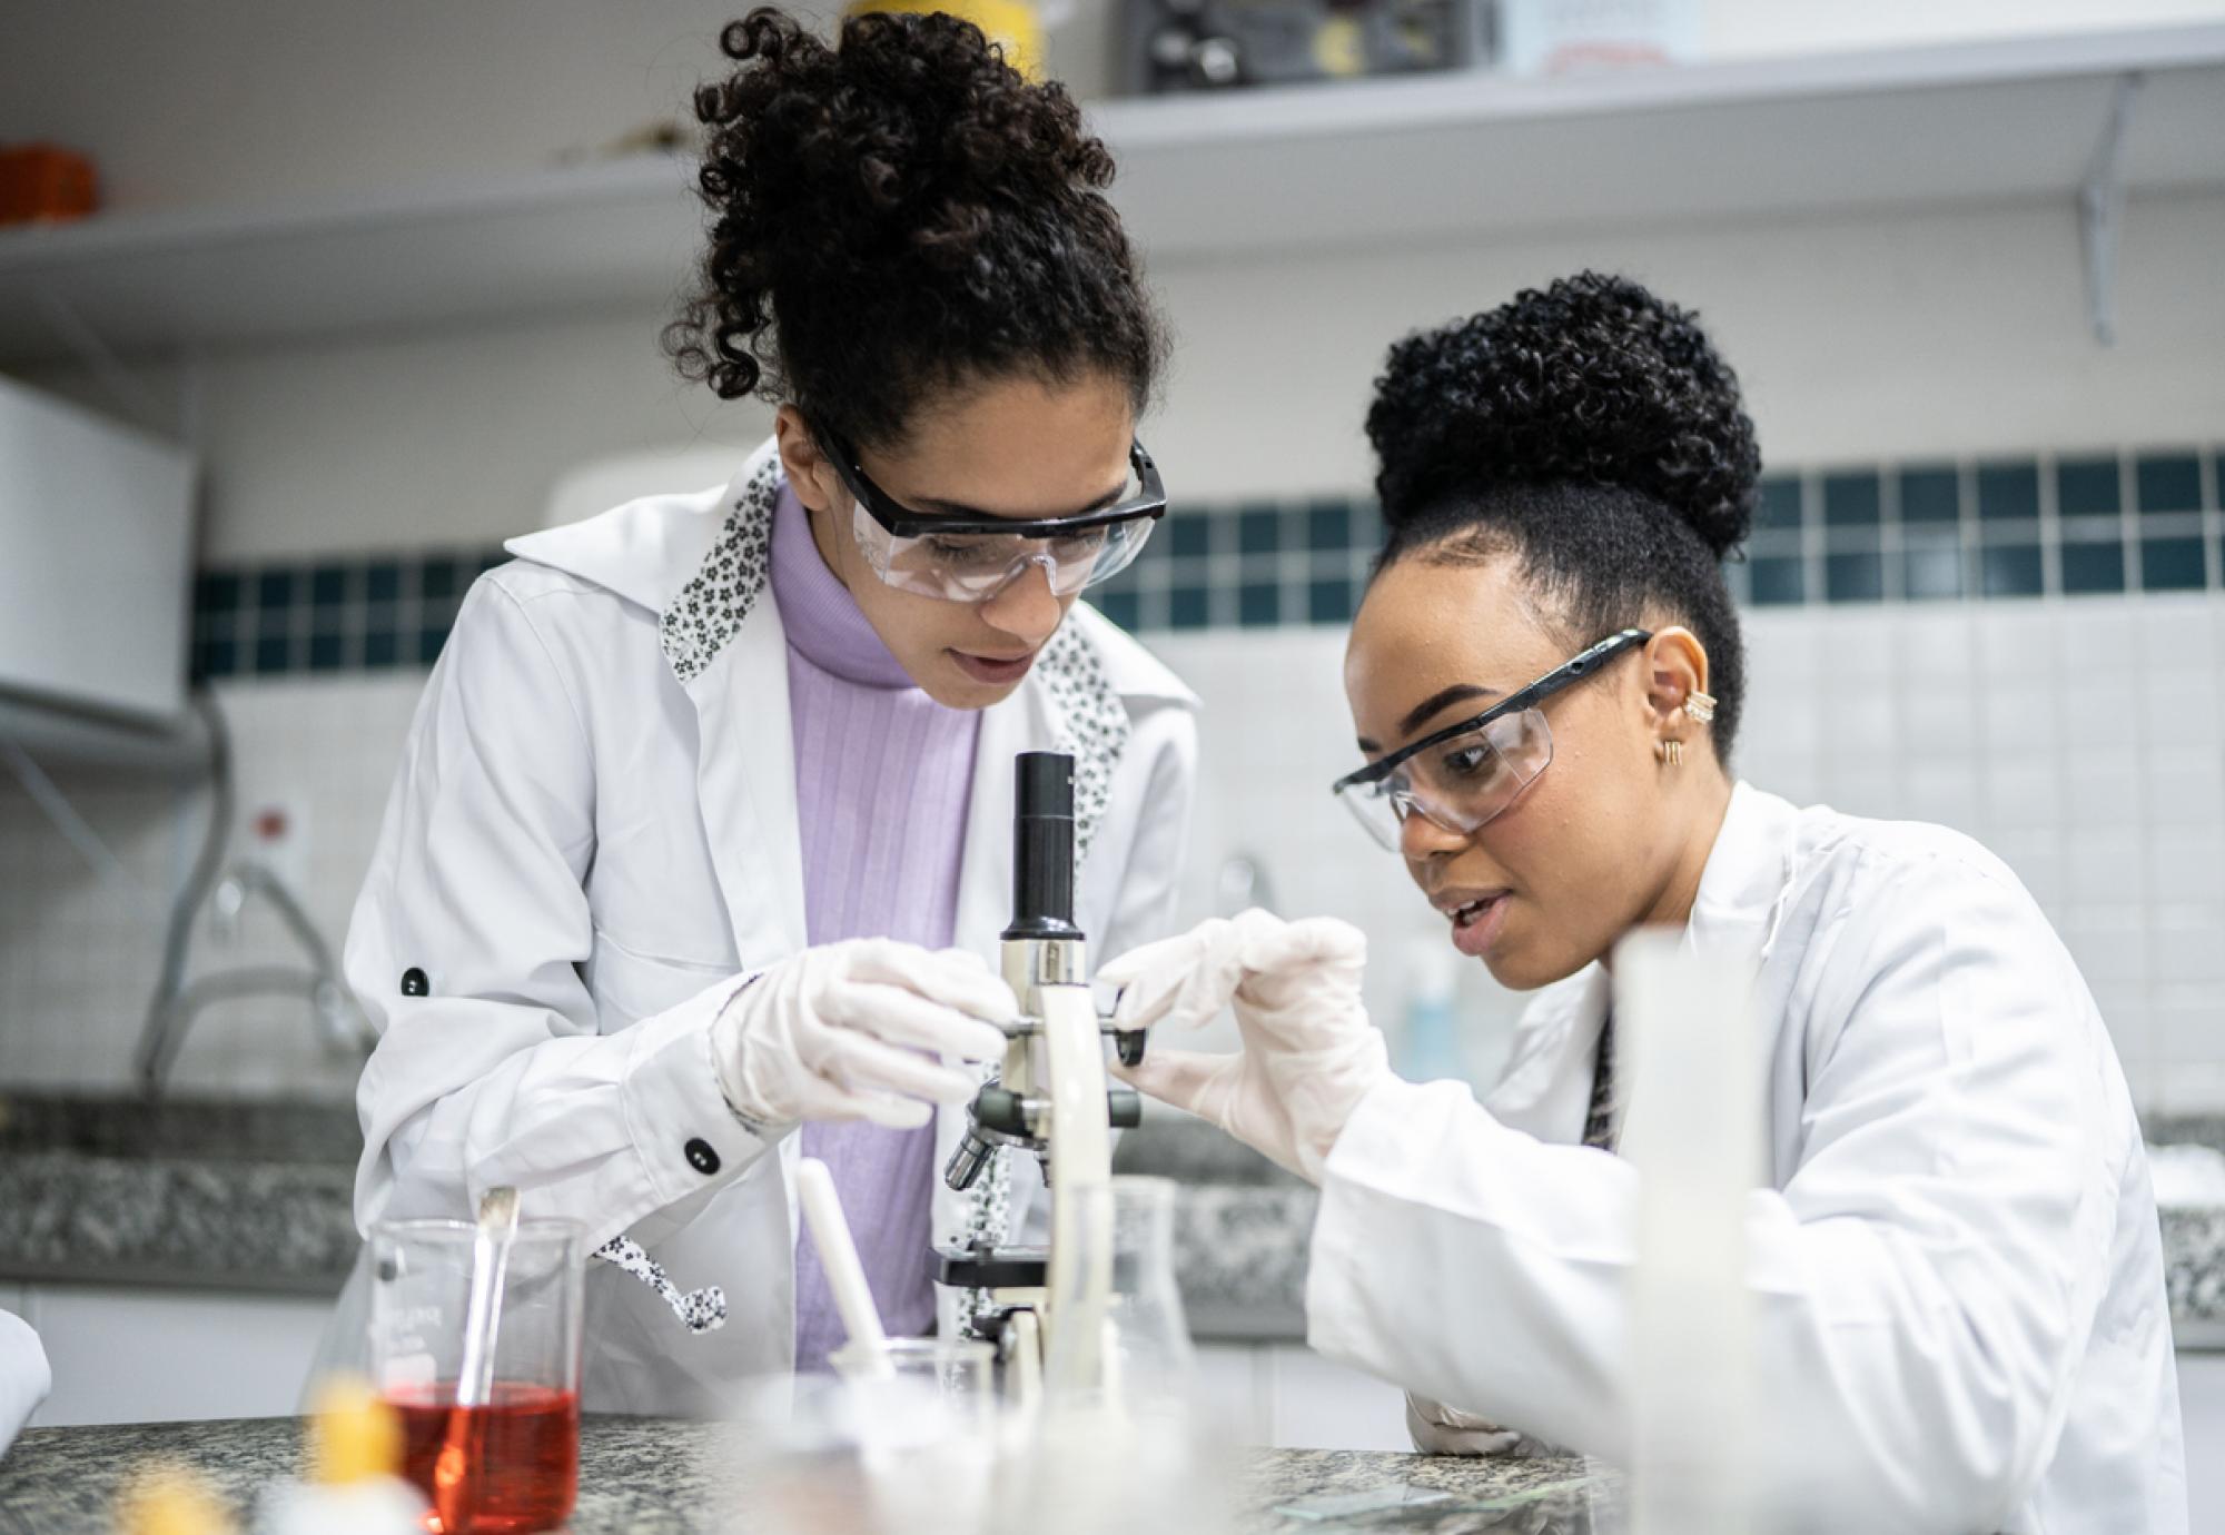
<svg viewBox="0 0 2225 1535">
<path fill-rule="evenodd" d="M 2118 78 L 2134 191 L 2225 187 L 2225 27 L 1104 102 L 1166 265 L 1555 227 L 2071 198 Z M 0 363 L 65 354 L 58 300 L 162 349 L 668 303 L 701 209 L 676 160 L 0 234 Z"/>
</svg>

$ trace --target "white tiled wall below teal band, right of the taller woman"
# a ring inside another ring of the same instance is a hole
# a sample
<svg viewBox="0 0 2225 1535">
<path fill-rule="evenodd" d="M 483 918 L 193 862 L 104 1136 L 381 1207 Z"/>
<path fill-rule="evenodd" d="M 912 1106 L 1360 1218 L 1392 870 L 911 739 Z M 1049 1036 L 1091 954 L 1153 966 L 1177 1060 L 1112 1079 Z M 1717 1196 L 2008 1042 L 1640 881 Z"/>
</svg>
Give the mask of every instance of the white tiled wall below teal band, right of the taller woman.
<svg viewBox="0 0 2225 1535">
<path fill-rule="evenodd" d="M 1353 761 L 1342 643 L 1319 630 L 1155 641 L 1206 701 L 1186 908 L 1208 912 L 1210 872 L 1246 852 L 1286 912 L 1348 917 L 1395 957 L 1442 937 L 1328 801 Z M 2225 603 L 1760 610 L 1747 643 L 1742 776 L 1985 841 L 2076 954 L 2143 1106 L 2225 1108 Z M 1371 974 L 1393 1028 L 1402 979 L 1400 963 Z M 1520 999 L 1480 965 L 1464 986 L 1473 1063 L 1489 1070 Z"/>
</svg>

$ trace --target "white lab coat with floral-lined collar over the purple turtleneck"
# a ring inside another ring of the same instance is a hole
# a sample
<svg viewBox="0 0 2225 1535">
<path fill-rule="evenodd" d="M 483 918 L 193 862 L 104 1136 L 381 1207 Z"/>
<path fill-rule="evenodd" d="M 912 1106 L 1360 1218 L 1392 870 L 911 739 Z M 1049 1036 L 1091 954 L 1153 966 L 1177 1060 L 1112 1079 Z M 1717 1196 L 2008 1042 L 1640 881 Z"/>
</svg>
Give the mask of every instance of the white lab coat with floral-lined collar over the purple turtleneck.
<svg viewBox="0 0 2225 1535">
<path fill-rule="evenodd" d="M 768 443 L 723 492 L 510 543 L 516 561 L 474 585 L 425 690 L 347 937 L 347 979 L 383 1034 L 356 1095 L 358 1226 L 461 1219 L 514 1184 L 527 1217 L 576 1219 L 587 1248 L 625 1232 L 681 1288 L 725 1290 L 728 1324 L 690 1335 L 645 1284 L 590 1264 L 592 1408 L 719 1413 L 734 1382 L 792 1361 L 797 1137 L 743 1128 L 710 1057 L 734 977 L 805 948 L 768 587 L 779 487 Z M 1195 699 L 1077 605 L 981 719 L 957 943 L 995 961 L 1010 919 L 1026 750 L 1077 754 L 1077 919 L 1097 952 L 1161 937 Z M 409 970 L 429 997 L 403 994 Z M 939 1157 L 963 1117 L 941 1110 Z M 1001 1163 L 975 1195 L 937 1184 L 937 1241 L 1017 1226 L 1039 1170 Z M 358 1266 L 336 1328 L 363 1326 L 365 1284 Z"/>
</svg>

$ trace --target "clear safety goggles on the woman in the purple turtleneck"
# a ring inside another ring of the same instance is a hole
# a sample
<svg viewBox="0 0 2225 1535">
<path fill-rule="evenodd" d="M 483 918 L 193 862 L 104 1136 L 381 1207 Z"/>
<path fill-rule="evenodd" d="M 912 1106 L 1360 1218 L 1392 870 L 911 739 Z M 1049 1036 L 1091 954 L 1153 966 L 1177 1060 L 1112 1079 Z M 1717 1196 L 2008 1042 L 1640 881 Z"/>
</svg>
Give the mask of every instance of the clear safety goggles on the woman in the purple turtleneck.
<svg viewBox="0 0 2225 1535">
<path fill-rule="evenodd" d="M 1128 570 L 1166 516 L 1159 465 L 1141 443 L 1128 445 L 1128 483 L 1110 505 L 1037 521 L 914 512 L 874 485 L 846 443 L 825 447 L 857 503 L 852 527 L 872 572 L 899 592 L 948 603 L 983 603 L 1030 570 L 1057 596 L 1072 596 Z"/>
</svg>

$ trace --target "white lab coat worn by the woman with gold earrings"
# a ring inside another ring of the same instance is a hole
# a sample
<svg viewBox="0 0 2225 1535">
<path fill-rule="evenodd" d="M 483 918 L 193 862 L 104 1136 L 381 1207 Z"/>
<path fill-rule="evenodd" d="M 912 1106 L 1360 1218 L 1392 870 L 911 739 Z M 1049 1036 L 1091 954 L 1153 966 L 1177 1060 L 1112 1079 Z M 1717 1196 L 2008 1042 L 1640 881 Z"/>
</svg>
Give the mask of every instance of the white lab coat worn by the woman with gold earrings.
<svg viewBox="0 0 2225 1535">
<path fill-rule="evenodd" d="M 1747 785 L 1687 943 L 1758 965 L 1758 1446 L 1802 1528 L 2178 1535 L 2147 1152 L 2071 957 L 1954 832 Z M 1537 997 L 1477 1106 L 1384 1083 L 1326 1163 L 1322 1353 L 1618 1459 L 1638 1172 L 1582 1139 L 1609 981 Z"/>
</svg>

